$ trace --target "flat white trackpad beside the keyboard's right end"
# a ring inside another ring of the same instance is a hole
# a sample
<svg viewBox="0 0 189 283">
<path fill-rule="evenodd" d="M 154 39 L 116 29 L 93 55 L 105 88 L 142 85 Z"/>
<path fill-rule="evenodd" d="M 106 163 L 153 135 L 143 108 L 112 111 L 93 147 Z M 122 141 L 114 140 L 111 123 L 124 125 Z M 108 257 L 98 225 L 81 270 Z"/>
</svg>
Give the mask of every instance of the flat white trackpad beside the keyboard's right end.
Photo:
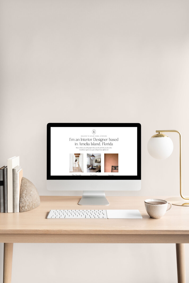
<svg viewBox="0 0 189 283">
<path fill-rule="evenodd" d="M 109 219 L 142 219 L 138 209 L 107 209 Z"/>
</svg>

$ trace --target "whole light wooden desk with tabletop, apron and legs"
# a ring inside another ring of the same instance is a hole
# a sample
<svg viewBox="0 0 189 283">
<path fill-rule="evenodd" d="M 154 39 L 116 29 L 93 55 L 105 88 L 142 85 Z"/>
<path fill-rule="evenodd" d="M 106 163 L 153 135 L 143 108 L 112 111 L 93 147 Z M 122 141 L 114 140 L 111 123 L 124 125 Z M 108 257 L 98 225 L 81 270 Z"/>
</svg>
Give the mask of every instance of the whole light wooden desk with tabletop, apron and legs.
<svg viewBox="0 0 189 283">
<path fill-rule="evenodd" d="M 41 196 L 41 205 L 21 213 L 0 213 L 4 243 L 3 283 L 11 282 L 13 243 L 176 243 L 178 282 L 185 283 L 184 243 L 189 243 L 189 207 L 173 205 L 161 219 L 145 210 L 147 198 L 107 197 L 103 209 L 139 209 L 143 219 L 46 219 L 50 209 L 91 209 L 78 196 Z M 92 206 L 102 209 L 102 206 Z"/>
</svg>

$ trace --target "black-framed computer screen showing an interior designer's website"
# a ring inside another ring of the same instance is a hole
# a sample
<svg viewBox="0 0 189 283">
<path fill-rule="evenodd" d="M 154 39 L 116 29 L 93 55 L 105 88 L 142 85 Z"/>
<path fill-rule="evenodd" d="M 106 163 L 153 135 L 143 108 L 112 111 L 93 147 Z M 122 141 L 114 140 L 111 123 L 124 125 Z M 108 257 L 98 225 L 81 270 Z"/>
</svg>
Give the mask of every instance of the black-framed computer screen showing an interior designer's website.
<svg viewBox="0 0 189 283">
<path fill-rule="evenodd" d="M 48 180 L 140 180 L 139 123 L 49 123 Z"/>
</svg>

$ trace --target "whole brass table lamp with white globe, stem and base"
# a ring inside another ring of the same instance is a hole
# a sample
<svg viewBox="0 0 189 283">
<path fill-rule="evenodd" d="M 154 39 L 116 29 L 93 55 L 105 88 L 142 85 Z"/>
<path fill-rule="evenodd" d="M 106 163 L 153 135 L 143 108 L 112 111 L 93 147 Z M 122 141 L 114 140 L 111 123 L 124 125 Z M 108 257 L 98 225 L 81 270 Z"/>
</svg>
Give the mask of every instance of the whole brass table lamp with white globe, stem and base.
<svg viewBox="0 0 189 283">
<path fill-rule="evenodd" d="M 174 205 L 189 206 L 189 198 L 182 195 L 182 155 L 181 155 L 181 134 L 176 130 L 157 130 L 154 136 L 148 141 L 148 153 L 156 159 L 165 159 L 173 152 L 172 140 L 162 132 L 177 132 L 179 134 L 179 156 L 180 156 L 180 197 L 167 198 L 166 200 Z M 158 138 L 158 139 L 157 139 Z"/>
</svg>

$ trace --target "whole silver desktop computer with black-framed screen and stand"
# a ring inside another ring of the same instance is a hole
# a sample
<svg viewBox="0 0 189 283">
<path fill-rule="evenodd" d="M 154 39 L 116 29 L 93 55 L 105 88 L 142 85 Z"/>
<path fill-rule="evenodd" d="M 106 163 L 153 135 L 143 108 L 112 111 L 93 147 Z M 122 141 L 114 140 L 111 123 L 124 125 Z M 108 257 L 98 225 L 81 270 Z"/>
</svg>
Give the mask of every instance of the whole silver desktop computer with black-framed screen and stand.
<svg viewBox="0 0 189 283">
<path fill-rule="evenodd" d="M 48 123 L 47 189 L 82 190 L 80 205 L 109 205 L 105 191 L 141 189 L 139 123 Z"/>
</svg>

